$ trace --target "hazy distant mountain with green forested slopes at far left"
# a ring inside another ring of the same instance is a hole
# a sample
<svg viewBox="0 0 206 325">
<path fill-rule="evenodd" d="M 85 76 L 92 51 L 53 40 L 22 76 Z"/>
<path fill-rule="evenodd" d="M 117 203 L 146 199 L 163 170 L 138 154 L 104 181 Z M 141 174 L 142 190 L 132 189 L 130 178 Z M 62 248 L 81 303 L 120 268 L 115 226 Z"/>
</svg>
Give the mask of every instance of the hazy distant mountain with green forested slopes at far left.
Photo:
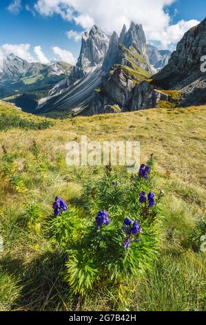
<svg viewBox="0 0 206 325">
<path fill-rule="evenodd" d="M 0 99 L 8 97 L 25 111 L 32 111 L 38 100 L 48 95 L 48 91 L 67 77 L 71 70 L 72 66 L 65 62 L 49 65 L 30 63 L 10 54 L 4 59 L 0 70 Z"/>
</svg>

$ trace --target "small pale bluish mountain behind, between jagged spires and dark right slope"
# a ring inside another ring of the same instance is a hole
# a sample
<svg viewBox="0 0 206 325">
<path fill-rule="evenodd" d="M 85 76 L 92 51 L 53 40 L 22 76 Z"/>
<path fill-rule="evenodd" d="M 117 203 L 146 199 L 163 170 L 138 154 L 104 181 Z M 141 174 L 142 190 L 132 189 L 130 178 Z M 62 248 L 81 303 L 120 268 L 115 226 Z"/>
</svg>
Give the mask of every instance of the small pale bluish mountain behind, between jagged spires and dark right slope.
<svg viewBox="0 0 206 325">
<path fill-rule="evenodd" d="M 164 68 L 172 55 L 170 50 L 158 50 L 155 46 L 147 44 L 147 53 L 150 61 L 150 65 L 155 71 L 160 71 Z"/>
</svg>

